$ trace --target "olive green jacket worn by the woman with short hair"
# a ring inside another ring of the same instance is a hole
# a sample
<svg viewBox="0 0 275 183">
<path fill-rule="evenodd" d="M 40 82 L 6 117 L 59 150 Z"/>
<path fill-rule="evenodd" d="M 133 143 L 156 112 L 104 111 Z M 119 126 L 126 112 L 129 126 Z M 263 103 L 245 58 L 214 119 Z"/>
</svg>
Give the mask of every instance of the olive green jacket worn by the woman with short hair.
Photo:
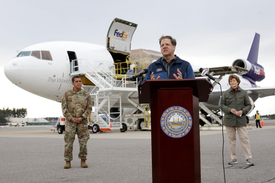
<svg viewBox="0 0 275 183">
<path fill-rule="evenodd" d="M 222 103 L 222 105 L 221 105 Z M 239 87 L 237 91 L 232 91 L 230 87 L 228 90 L 223 92 L 223 100 L 221 101 L 219 108 L 224 112 L 223 124 L 225 126 L 246 126 L 246 114 L 251 109 L 250 100 L 245 90 Z M 232 114 L 230 110 L 243 110 L 241 116 Z"/>
</svg>

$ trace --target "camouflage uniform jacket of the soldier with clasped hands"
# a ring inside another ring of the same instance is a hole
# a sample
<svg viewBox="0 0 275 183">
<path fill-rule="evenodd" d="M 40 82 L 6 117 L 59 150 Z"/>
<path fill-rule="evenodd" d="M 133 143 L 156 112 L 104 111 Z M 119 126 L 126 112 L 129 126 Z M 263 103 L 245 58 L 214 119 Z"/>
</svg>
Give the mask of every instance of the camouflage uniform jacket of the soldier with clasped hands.
<svg viewBox="0 0 275 183">
<path fill-rule="evenodd" d="M 83 122 L 87 122 L 93 106 L 90 94 L 83 89 L 80 91 L 74 91 L 74 89 L 66 91 L 62 97 L 61 105 L 63 116 L 68 122 L 72 118 L 81 118 L 81 116 L 85 118 Z"/>
</svg>

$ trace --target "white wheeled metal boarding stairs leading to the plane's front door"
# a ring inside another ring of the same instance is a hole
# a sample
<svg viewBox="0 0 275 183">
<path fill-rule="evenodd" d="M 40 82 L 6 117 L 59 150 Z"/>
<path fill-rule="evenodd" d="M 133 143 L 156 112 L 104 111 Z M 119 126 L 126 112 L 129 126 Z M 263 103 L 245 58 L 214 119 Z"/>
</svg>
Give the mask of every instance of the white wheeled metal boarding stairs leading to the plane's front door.
<svg viewBox="0 0 275 183">
<path fill-rule="evenodd" d="M 122 123 L 121 119 L 121 96 L 125 92 L 128 94 L 137 92 L 137 80 L 132 81 L 132 75 L 124 75 L 117 79 L 117 74 L 108 68 L 106 63 L 95 61 L 93 65 L 87 59 L 76 59 L 71 62 L 71 74 L 80 75 L 83 87 L 89 87 L 91 99 L 94 100 L 95 111 L 92 112 L 89 121 L 91 122 L 92 131 L 110 131 L 120 129 L 121 132 L 127 131 L 127 125 Z M 89 82 L 83 80 L 89 79 Z M 110 112 L 114 104 L 119 103 L 119 112 Z M 113 128 L 111 125 L 111 114 L 120 114 L 120 125 Z"/>
</svg>

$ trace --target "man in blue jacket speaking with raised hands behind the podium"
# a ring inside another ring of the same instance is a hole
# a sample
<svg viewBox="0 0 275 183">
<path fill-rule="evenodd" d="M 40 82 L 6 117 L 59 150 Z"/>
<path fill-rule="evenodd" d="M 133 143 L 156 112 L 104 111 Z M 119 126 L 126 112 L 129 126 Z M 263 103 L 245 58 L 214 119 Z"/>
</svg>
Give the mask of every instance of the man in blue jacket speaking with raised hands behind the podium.
<svg viewBox="0 0 275 183">
<path fill-rule="evenodd" d="M 194 71 L 189 62 L 174 55 L 176 39 L 171 36 L 162 36 L 159 39 L 160 57 L 148 67 L 146 79 L 195 79 Z"/>
</svg>

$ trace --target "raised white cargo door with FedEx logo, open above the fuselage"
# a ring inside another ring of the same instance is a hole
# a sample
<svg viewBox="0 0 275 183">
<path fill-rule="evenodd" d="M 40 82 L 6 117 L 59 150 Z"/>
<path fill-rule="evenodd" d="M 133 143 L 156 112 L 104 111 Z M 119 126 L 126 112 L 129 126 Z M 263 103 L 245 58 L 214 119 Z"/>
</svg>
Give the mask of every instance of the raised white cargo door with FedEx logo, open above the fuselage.
<svg viewBox="0 0 275 183">
<path fill-rule="evenodd" d="M 130 53 L 131 40 L 137 24 L 115 18 L 109 27 L 106 47 L 110 52 Z"/>
</svg>

